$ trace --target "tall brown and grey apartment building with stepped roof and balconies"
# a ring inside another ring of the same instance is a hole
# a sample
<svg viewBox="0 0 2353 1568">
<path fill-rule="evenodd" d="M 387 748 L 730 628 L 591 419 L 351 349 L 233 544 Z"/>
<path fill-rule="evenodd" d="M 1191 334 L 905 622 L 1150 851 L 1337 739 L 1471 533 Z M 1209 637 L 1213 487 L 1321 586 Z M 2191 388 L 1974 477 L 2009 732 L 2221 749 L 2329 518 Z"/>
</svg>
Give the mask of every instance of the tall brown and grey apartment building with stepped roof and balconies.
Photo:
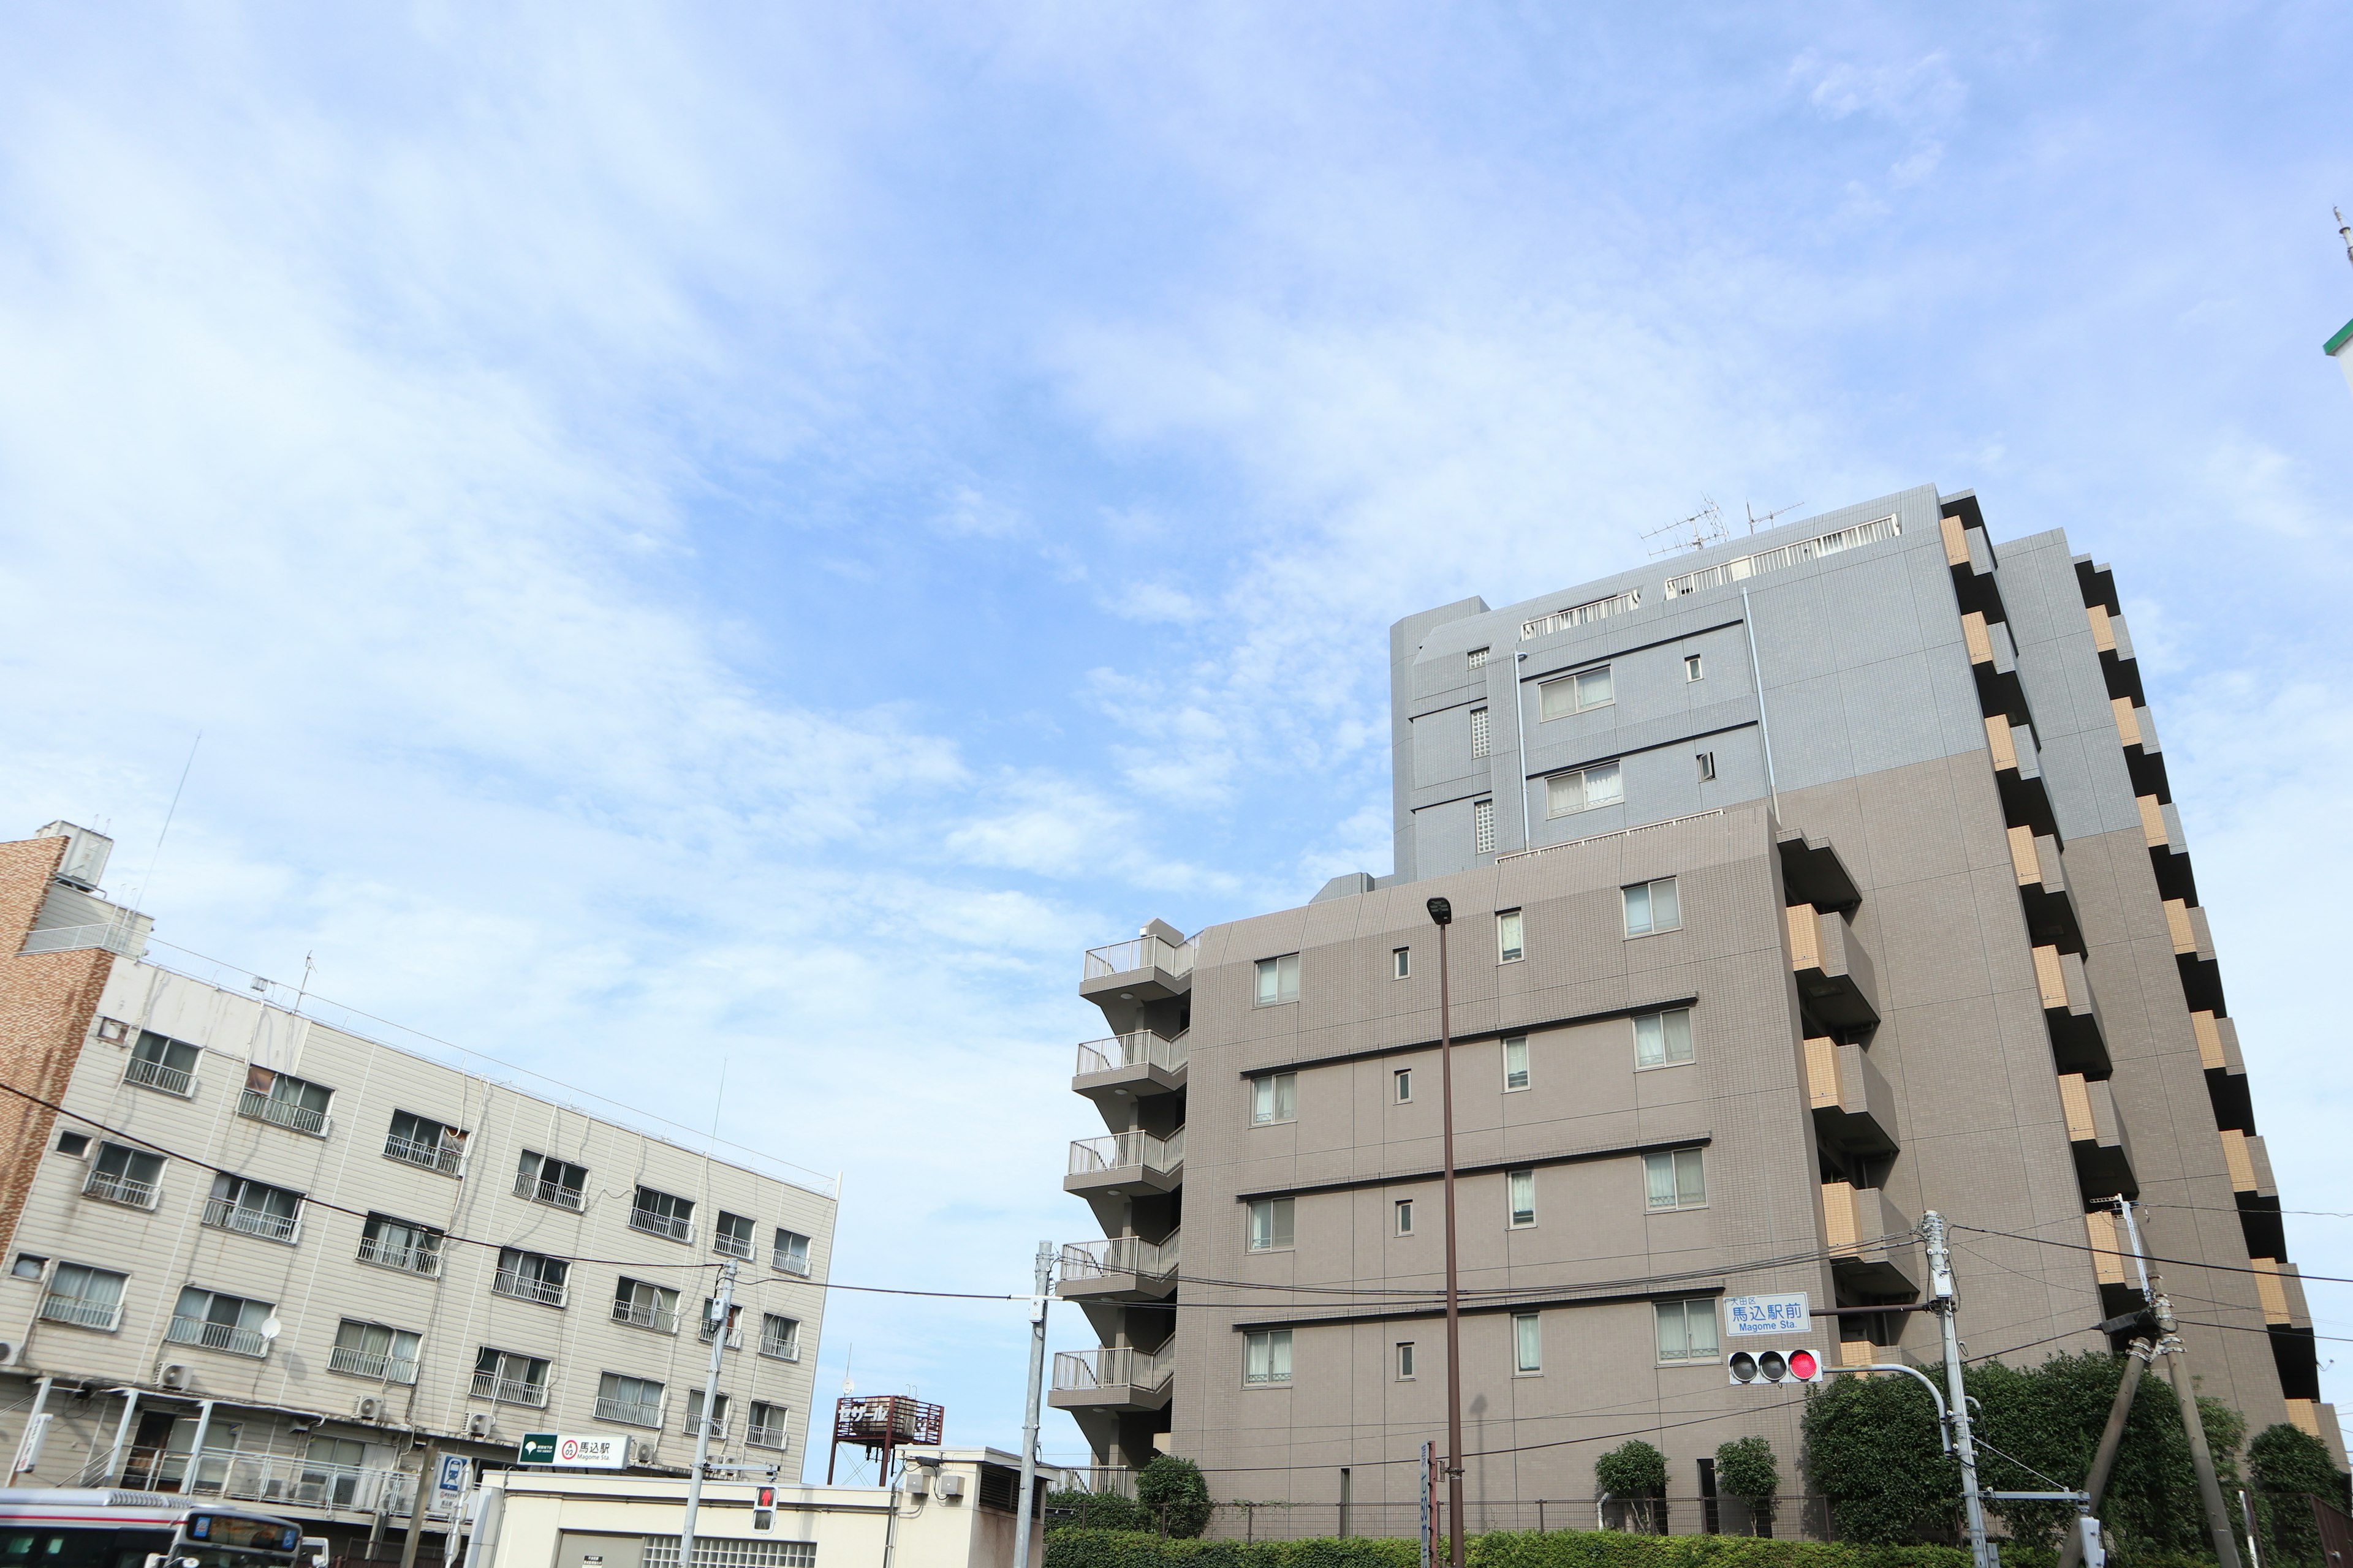
<svg viewBox="0 0 2353 1568">
<path fill-rule="evenodd" d="M 1099 1465 L 1158 1446 L 1412 1528 L 1445 1439 L 1431 896 L 1480 1519 L 1591 1500 L 1628 1436 L 1680 1497 L 1734 1436 L 1795 1476 L 1798 1392 L 1729 1385 L 1725 1300 L 1918 1302 L 1927 1208 L 1967 1352 L 2033 1363 L 2139 1302 L 2134 1199 L 2200 1389 L 2341 1453 L 2106 567 L 1922 487 L 1407 616 L 1391 691 L 1393 875 L 1087 954 L 1113 1037 L 1073 1088 L 1111 1133 L 1066 1187 L 1106 1239 L 1061 1293 L 1104 1349 L 1052 1399 Z M 1927 1314 L 1741 1342 L 1941 1359 Z"/>
</svg>

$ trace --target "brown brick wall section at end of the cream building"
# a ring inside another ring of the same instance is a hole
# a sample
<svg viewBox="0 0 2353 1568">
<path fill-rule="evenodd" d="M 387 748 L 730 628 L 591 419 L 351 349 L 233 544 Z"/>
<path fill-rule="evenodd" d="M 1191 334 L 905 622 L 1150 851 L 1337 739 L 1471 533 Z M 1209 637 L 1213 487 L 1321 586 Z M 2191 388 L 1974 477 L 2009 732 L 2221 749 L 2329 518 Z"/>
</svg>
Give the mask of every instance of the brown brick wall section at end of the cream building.
<svg viewBox="0 0 2353 1568">
<path fill-rule="evenodd" d="M 115 961 L 99 947 L 19 952 L 64 856 L 66 839 L 0 844 L 0 1084 L 52 1103 L 66 1093 Z M 0 1093 L 0 1248 L 16 1237 L 54 1121 L 54 1112 Z"/>
</svg>

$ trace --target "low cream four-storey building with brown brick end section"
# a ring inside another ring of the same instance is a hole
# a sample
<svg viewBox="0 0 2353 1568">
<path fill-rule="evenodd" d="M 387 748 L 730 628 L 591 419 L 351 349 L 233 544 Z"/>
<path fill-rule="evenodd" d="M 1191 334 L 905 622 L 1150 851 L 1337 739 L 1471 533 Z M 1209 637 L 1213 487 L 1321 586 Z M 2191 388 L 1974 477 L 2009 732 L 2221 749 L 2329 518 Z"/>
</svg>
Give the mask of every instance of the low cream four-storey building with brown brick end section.
<svg viewBox="0 0 2353 1568">
<path fill-rule="evenodd" d="M 798 1472 L 831 1192 L 146 957 L 148 917 L 99 893 L 106 851 L 68 823 L 0 844 L 19 1486 L 228 1497 L 341 1544 L 405 1528 L 428 1450 L 612 1434 L 678 1474 L 729 1262 L 711 1448 Z"/>
</svg>

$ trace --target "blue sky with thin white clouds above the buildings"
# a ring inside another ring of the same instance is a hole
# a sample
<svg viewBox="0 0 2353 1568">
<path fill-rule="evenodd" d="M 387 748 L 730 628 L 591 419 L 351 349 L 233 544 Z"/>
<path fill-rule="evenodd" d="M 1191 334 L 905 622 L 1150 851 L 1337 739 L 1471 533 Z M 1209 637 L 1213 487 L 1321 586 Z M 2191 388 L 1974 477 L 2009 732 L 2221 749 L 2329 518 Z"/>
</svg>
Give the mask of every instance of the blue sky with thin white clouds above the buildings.
<svg viewBox="0 0 2353 1568">
<path fill-rule="evenodd" d="M 687 1124 L 725 1058 L 729 1138 L 847 1171 L 838 1279 L 1019 1288 L 1085 1234 L 1080 950 L 1388 870 L 1395 616 L 1704 494 L 1974 487 L 2115 562 L 2332 1208 L 2348 56 L 2329 5 L 16 7 L 0 827 L 144 879 L 202 729 L 162 936 Z M 819 1392 L 856 1342 L 1009 1446 L 1021 1331 L 845 1298 Z"/>
</svg>

